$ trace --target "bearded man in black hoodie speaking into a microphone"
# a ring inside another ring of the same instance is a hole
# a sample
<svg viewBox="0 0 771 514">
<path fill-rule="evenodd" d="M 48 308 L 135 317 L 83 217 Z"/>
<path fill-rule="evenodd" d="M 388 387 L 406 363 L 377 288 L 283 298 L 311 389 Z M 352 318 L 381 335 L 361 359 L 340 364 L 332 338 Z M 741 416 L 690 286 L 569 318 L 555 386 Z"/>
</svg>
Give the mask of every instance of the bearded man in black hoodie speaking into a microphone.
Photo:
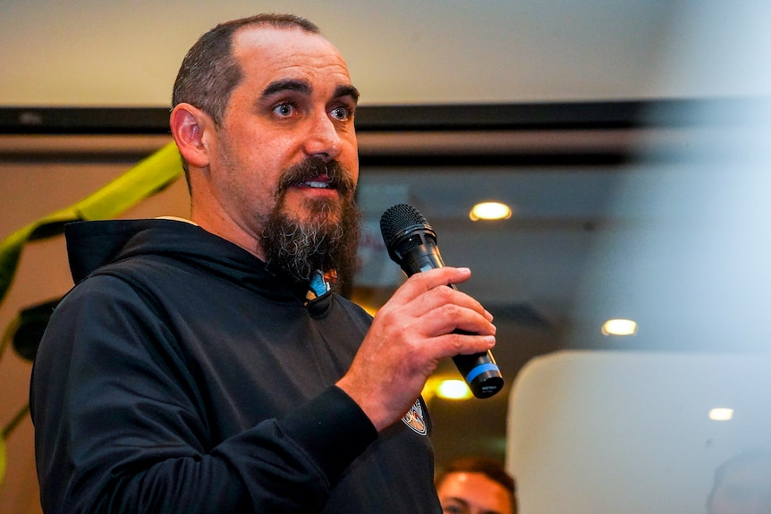
<svg viewBox="0 0 771 514">
<path fill-rule="evenodd" d="M 191 48 L 170 124 L 192 223 L 67 230 L 76 286 L 30 402 L 45 511 L 440 510 L 419 392 L 495 326 L 445 287 L 468 269 L 411 277 L 374 320 L 328 291 L 355 252 L 357 99 L 301 18 L 227 22 Z"/>
</svg>

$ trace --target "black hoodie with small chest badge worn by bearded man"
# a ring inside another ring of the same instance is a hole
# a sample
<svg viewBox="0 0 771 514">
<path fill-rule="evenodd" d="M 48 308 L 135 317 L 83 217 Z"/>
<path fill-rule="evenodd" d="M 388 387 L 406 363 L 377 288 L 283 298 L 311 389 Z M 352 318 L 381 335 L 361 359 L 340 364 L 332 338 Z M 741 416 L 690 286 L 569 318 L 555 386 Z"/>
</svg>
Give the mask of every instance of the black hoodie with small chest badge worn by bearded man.
<svg viewBox="0 0 771 514">
<path fill-rule="evenodd" d="M 66 237 L 76 286 L 30 394 L 47 513 L 441 511 L 422 400 L 411 426 L 377 434 L 334 385 L 362 309 L 335 293 L 306 305 L 307 284 L 191 223 Z"/>
</svg>

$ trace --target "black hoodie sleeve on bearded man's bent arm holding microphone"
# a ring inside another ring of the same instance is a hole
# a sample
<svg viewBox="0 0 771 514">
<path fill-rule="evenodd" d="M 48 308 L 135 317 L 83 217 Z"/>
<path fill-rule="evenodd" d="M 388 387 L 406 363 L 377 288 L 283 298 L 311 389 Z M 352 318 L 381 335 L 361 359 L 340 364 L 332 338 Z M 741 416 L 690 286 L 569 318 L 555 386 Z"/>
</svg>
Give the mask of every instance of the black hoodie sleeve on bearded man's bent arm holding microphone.
<svg viewBox="0 0 771 514">
<path fill-rule="evenodd" d="M 171 335 L 147 309 L 127 284 L 102 277 L 52 316 L 30 392 L 43 509 L 322 510 L 335 476 L 377 438 L 369 418 L 329 386 L 212 445 L 200 393 L 155 344 Z"/>
</svg>

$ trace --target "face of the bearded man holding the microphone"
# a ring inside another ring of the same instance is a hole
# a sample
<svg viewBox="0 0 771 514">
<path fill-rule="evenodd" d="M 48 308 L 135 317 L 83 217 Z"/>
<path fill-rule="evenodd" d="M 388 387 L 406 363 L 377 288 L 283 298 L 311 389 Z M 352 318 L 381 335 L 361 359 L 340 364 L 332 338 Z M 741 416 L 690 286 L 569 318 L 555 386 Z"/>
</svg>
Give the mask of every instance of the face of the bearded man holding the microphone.
<svg viewBox="0 0 771 514">
<path fill-rule="evenodd" d="M 264 258 L 262 232 L 271 215 L 325 227 L 341 222 L 345 201 L 352 204 L 357 93 L 335 47 L 301 29 L 241 29 L 233 54 L 244 77 L 216 131 L 207 200 L 216 206 L 208 210 L 229 225 L 225 237 L 252 242 L 249 249 Z M 309 161 L 317 165 L 303 165 Z"/>
</svg>

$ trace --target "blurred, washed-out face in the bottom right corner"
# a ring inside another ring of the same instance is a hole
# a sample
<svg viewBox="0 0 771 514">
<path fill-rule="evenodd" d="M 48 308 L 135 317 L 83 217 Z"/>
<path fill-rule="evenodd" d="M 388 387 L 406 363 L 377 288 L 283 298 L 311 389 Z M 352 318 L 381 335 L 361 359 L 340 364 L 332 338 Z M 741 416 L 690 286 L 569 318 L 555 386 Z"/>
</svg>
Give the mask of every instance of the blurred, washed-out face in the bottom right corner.
<svg viewBox="0 0 771 514">
<path fill-rule="evenodd" d="M 771 465 L 752 462 L 726 470 L 708 514 L 771 514 Z"/>
</svg>

